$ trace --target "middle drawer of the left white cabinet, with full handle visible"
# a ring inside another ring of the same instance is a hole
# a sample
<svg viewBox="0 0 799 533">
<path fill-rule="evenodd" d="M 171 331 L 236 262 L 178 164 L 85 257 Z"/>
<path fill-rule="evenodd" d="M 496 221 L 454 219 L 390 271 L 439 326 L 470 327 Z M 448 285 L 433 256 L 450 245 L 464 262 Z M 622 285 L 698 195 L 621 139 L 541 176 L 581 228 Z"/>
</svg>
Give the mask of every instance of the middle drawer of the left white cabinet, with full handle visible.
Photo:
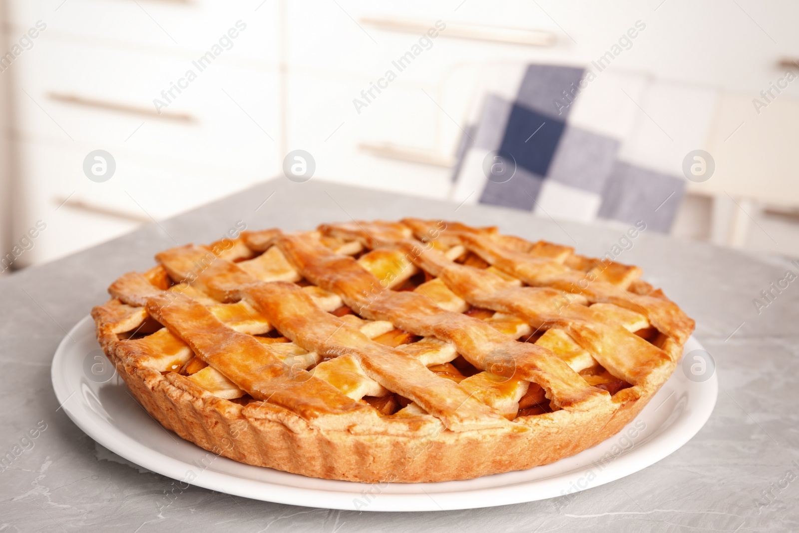
<svg viewBox="0 0 799 533">
<path fill-rule="evenodd" d="M 274 71 L 221 62 L 198 71 L 182 59 L 54 40 L 13 68 L 23 138 L 141 153 L 248 180 L 279 168 Z M 187 70 L 197 78 L 189 82 Z M 185 88 L 173 89 L 167 103 L 161 91 L 179 82 Z M 156 98 L 166 106 L 157 110 Z"/>
</svg>

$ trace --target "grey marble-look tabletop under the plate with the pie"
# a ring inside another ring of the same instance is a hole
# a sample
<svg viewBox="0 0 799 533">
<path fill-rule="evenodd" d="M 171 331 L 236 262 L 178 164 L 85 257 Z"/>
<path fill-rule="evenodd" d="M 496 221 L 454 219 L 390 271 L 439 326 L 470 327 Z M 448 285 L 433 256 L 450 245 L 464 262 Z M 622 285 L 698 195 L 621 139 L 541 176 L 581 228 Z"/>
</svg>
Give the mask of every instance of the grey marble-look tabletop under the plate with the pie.
<svg viewBox="0 0 799 533">
<path fill-rule="evenodd" d="M 358 513 L 189 487 L 162 508 L 170 479 L 99 446 L 59 409 L 50 385 L 58 342 L 105 301 L 110 281 L 149 268 L 157 251 L 216 240 L 237 221 L 251 229 L 291 230 L 351 217 L 409 215 L 499 225 L 507 233 L 596 255 L 622 235 L 621 229 L 528 213 L 281 178 L 6 276 L 0 279 L 0 455 L 15 446 L 22 453 L 0 467 L 0 531 L 799 530 L 799 280 L 775 291 L 767 307 L 753 304 L 786 270 L 799 268 L 654 233 L 642 233 L 618 261 L 641 265 L 647 280 L 697 320 L 696 336 L 718 365 L 718 403 L 705 428 L 674 454 L 568 500 Z"/>
</svg>

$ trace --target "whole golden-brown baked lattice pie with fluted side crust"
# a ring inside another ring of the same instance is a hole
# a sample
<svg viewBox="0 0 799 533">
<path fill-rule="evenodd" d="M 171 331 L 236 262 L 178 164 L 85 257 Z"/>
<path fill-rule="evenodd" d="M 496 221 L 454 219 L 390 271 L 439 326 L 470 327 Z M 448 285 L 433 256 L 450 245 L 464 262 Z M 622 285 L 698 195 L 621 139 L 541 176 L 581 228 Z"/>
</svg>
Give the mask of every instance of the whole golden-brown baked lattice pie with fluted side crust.
<svg viewBox="0 0 799 533">
<path fill-rule="evenodd" d="M 619 432 L 694 330 L 641 269 L 494 227 L 244 232 L 129 272 L 97 339 L 165 428 L 242 463 L 431 482 Z"/>
</svg>

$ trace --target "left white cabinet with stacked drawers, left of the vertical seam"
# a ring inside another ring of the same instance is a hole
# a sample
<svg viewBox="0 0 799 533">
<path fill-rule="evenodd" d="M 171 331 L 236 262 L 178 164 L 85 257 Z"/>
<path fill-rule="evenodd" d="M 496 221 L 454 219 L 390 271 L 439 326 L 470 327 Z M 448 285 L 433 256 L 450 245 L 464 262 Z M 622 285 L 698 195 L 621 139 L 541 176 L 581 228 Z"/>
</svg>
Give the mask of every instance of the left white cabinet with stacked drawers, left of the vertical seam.
<svg viewBox="0 0 799 533">
<path fill-rule="evenodd" d="M 12 42 L 41 21 L 3 73 L 13 80 L 14 234 L 50 221 L 18 265 L 277 172 L 277 4 L 250 3 L 10 2 Z M 116 163 L 103 183 L 83 170 L 96 149 Z"/>
</svg>

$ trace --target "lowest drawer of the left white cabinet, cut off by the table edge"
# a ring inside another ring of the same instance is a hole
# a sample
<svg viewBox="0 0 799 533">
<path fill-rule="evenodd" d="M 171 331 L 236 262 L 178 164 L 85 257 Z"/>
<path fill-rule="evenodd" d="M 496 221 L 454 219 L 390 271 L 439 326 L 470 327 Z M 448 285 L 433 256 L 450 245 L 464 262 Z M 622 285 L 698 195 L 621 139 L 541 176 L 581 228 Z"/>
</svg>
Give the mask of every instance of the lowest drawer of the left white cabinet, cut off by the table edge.
<svg viewBox="0 0 799 533">
<path fill-rule="evenodd" d="M 141 223 L 209 203 L 256 181 L 202 165 L 116 153 L 116 173 L 97 183 L 83 173 L 85 147 L 70 141 L 17 141 L 13 148 L 24 165 L 22 185 L 33 192 L 23 199 L 14 234 L 21 235 L 39 220 L 47 224 L 34 249 L 20 257 L 26 265 L 118 237 Z M 246 220 L 245 213 L 242 218 Z"/>
</svg>

